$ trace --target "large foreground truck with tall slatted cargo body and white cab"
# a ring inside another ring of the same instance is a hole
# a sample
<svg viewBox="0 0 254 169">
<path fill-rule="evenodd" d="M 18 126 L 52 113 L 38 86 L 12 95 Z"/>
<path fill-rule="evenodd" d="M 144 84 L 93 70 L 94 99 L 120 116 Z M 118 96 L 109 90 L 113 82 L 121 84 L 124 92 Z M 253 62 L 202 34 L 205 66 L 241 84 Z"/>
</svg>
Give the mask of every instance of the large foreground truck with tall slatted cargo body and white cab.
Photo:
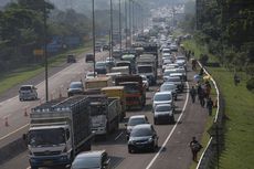
<svg viewBox="0 0 254 169">
<path fill-rule="evenodd" d="M 31 169 L 66 166 L 75 155 L 91 150 L 89 101 L 78 95 L 59 98 L 31 109 L 25 138 Z"/>
</svg>

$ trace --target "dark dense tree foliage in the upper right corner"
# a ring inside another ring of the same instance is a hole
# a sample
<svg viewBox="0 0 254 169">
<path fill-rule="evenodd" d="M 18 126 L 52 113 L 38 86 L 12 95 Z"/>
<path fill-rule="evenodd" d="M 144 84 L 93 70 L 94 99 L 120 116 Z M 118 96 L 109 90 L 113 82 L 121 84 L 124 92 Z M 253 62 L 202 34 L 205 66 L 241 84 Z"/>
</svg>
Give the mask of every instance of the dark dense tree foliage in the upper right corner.
<svg viewBox="0 0 254 169">
<path fill-rule="evenodd" d="M 254 1 L 197 0 L 201 8 L 187 14 L 182 25 L 226 67 L 250 72 L 254 64 Z M 195 4 L 187 2 L 186 8 Z M 194 24 L 195 23 L 195 24 Z M 248 71 L 247 71 L 248 70 Z M 252 70 L 251 72 L 253 72 Z"/>
</svg>

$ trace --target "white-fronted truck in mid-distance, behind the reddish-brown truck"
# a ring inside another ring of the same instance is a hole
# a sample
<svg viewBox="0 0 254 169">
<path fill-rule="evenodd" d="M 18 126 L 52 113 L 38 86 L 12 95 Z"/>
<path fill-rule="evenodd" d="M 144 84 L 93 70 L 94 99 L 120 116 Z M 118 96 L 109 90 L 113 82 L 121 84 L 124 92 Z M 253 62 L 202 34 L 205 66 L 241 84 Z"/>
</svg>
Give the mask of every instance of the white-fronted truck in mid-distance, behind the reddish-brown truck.
<svg viewBox="0 0 254 169">
<path fill-rule="evenodd" d="M 137 60 L 137 74 L 146 75 L 149 80 L 149 85 L 155 85 L 157 82 L 157 64 L 156 56 L 152 54 L 141 54 Z"/>
</svg>

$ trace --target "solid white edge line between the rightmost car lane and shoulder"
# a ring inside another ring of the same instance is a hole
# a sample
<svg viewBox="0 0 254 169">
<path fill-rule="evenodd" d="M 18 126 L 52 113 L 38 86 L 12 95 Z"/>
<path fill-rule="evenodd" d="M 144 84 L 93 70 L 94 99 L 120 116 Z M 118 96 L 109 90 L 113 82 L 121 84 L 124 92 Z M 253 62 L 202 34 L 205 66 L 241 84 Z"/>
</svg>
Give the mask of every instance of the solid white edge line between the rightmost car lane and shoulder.
<svg viewBox="0 0 254 169">
<path fill-rule="evenodd" d="M 170 134 L 168 135 L 167 139 L 165 140 L 163 145 L 160 147 L 159 151 L 156 154 L 156 156 L 152 158 L 152 160 L 150 161 L 150 163 L 146 167 L 146 169 L 149 169 L 151 168 L 151 166 L 155 163 L 156 159 L 159 157 L 159 155 L 161 154 L 161 151 L 163 150 L 165 146 L 168 144 L 169 139 L 171 138 L 174 129 L 177 128 L 178 126 L 178 123 L 180 122 L 180 119 L 182 118 L 182 115 L 183 113 L 186 112 L 186 107 L 187 107 L 187 103 L 188 103 L 188 99 L 189 99 L 189 84 L 187 84 L 187 99 L 186 99 L 186 103 L 183 105 L 183 108 L 182 108 L 182 112 L 181 112 L 181 115 L 178 117 L 178 120 L 176 123 L 176 125 L 173 126 L 172 130 L 170 131 Z"/>
</svg>

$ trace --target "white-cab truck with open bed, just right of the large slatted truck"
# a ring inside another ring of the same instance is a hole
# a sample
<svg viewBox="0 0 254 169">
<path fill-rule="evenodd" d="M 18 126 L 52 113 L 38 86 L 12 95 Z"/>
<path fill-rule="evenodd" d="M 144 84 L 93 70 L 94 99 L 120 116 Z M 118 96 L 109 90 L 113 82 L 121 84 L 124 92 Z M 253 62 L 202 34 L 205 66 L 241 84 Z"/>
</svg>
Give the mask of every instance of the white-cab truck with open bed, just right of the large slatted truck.
<svg viewBox="0 0 254 169">
<path fill-rule="evenodd" d="M 110 98 L 104 94 L 87 95 L 92 118 L 92 130 L 95 135 L 107 136 L 118 129 L 120 115 L 119 98 Z"/>
</svg>

